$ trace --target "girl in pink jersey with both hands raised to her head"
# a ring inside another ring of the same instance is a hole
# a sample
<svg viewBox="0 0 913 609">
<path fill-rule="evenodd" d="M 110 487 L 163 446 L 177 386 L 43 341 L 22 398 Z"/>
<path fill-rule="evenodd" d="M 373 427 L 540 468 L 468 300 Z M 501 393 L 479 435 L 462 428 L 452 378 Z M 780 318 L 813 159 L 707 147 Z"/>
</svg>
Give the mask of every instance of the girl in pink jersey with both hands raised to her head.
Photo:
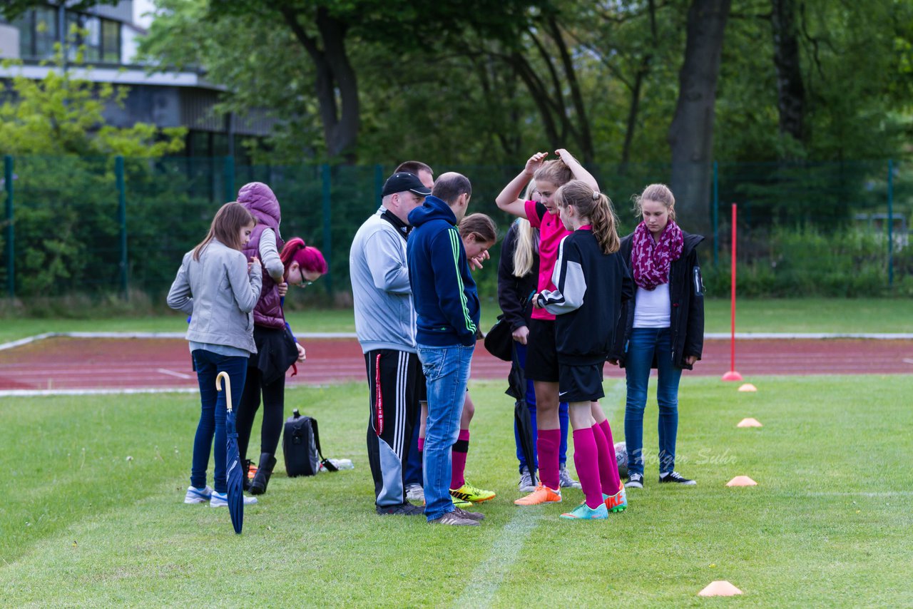
<svg viewBox="0 0 913 609">
<path fill-rule="evenodd" d="M 530 225 L 539 228 L 540 262 L 537 292 L 555 289 L 551 275 L 558 259 L 558 247 L 561 239 L 571 234 L 571 231 L 561 223 L 555 193 L 562 185 L 575 179 L 581 180 L 593 191 L 599 191 L 599 184 L 593 175 L 586 171 L 570 152 L 559 149 L 555 153 L 559 158 L 553 161 L 545 160 L 548 152 L 533 154 L 523 171 L 504 187 L 496 199 L 499 209 L 526 218 Z M 536 189 L 540 193 L 539 202 L 519 198 L 530 179 L 535 181 Z M 538 410 L 536 452 L 539 456 L 540 484 L 530 495 L 514 501 L 521 506 L 561 501 L 558 352 L 555 346 L 555 317 L 547 310 L 533 310 L 527 349 L 525 372 L 526 377 L 533 382 Z M 612 432 L 598 403 L 593 405 L 593 415 L 595 427 L 603 432 L 596 438 L 603 492 L 616 497 L 621 492 L 621 479 L 618 477 L 615 462 Z"/>
</svg>

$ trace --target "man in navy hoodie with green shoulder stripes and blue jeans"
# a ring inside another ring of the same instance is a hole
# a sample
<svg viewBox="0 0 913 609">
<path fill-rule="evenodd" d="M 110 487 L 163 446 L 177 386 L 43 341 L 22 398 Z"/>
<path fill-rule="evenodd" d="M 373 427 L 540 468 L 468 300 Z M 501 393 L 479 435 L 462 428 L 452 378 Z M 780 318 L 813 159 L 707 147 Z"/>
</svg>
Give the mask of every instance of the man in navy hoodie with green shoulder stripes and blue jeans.
<svg viewBox="0 0 913 609">
<path fill-rule="evenodd" d="M 444 173 L 431 196 L 409 214 L 414 228 L 406 259 L 417 314 L 415 342 L 428 386 L 425 517 L 435 524 L 477 525 L 484 518 L 456 508 L 450 498 L 450 450 L 459 435 L 479 317 L 476 282 L 456 229 L 471 196 L 466 176 Z"/>
</svg>

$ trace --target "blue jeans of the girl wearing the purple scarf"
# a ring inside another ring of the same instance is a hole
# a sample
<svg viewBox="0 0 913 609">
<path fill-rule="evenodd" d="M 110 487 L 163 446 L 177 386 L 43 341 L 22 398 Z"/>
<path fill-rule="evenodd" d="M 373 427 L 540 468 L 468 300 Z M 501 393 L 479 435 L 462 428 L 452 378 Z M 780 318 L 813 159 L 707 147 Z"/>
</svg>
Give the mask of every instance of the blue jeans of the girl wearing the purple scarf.
<svg viewBox="0 0 913 609">
<path fill-rule="evenodd" d="M 627 380 L 624 442 L 627 445 L 629 474 L 644 474 L 644 408 L 654 356 L 657 373 L 656 404 L 659 405 L 659 473 L 671 472 L 676 467 L 678 381 L 682 369 L 672 362 L 672 342 L 668 328 L 634 328 L 627 344 L 624 363 Z"/>
</svg>

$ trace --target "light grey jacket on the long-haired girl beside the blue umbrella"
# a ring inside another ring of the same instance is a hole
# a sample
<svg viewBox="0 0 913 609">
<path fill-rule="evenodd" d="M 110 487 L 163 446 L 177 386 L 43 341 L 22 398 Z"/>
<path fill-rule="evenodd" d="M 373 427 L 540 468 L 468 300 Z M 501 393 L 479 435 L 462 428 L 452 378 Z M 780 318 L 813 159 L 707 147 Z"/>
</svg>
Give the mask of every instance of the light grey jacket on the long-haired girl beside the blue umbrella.
<svg viewBox="0 0 913 609">
<path fill-rule="evenodd" d="M 184 254 L 168 290 L 168 306 L 192 316 L 188 341 L 256 353 L 250 311 L 260 298 L 261 283 L 260 265 L 253 265 L 248 273 L 244 254 L 213 239 L 199 260 L 194 260 L 193 250 Z"/>
</svg>

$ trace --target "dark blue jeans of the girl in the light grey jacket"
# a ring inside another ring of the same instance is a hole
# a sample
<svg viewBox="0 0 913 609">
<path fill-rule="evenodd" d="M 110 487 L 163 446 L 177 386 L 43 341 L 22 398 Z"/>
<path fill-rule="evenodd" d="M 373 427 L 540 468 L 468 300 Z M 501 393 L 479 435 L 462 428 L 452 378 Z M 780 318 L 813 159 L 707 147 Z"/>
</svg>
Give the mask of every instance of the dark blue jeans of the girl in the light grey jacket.
<svg viewBox="0 0 913 609">
<path fill-rule="evenodd" d="M 215 474 L 213 488 L 224 493 L 226 486 L 226 392 L 216 391 L 215 377 L 226 372 L 231 380 L 232 409 L 237 410 L 247 377 L 247 357 L 219 355 L 204 349 L 193 353 L 196 379 L 200 383 L 200 423 L 194 437 L 194 461 L 190 467 L 190 484 L 196 488 L 206 486 L 206 468 L 215 436 Z M 226 388 L 223 387 L 223 390 Z"/>
</svg>

